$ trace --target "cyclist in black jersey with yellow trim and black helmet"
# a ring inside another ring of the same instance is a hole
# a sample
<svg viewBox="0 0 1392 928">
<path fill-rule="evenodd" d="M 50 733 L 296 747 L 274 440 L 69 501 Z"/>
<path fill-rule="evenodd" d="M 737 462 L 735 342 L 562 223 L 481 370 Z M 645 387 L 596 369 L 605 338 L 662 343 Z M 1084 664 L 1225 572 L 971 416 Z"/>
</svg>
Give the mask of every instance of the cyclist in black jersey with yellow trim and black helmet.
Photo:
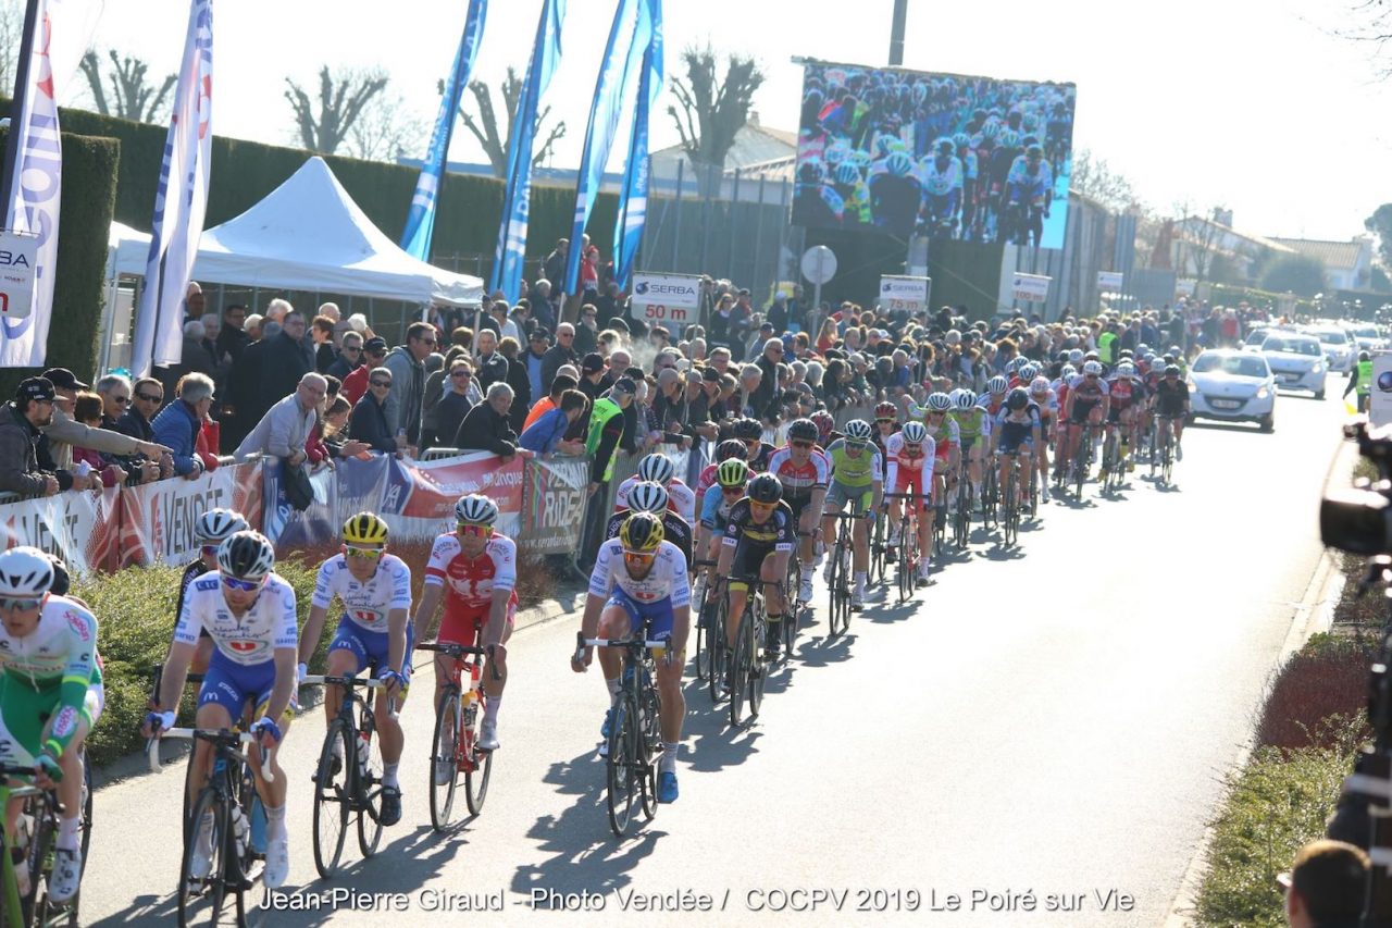
<svg viewBox="0 0 1392 928">
<path fill-rule="evenodd" d="M 764 651 L 770 660 L 778 656 L 784 613 L 781 584 L 788 575 L 788 555 L 796 539 L 796 520 L 782 499 L 782 484 L 773 474 L 759 474 L 749 481 L 745 497 L 729 510 L 720 563 L 715 566 L 715 575 L 728 581 L 729 612 L 725 614 L 731 621 L 725 623 L 725 644 L 731 654 L 735 651 L 739 623 L 749 599 L 749 582 L 766 580 L 768 637 L 764 640 Z"/>
</svg>

